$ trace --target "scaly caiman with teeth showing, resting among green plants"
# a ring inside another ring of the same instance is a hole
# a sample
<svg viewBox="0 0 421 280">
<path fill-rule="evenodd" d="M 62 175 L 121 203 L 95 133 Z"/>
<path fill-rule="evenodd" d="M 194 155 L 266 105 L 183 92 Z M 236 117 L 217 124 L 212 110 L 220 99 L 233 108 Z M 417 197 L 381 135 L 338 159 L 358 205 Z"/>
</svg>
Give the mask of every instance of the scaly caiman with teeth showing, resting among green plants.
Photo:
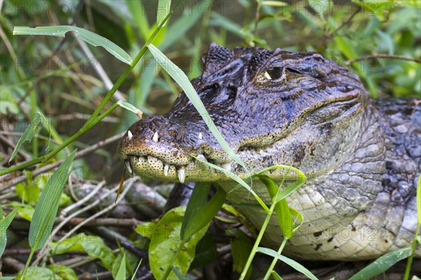
<svg viewBox="0 0 421 280">
<path fill-rule="evenodd" d="M 286 255 L 305 260 L 366 260 L 410 246 L 421 164 L 421 108 L 417 100 L 371 100 L 358 76 L 317 53 L 211 44 L 203 74 L 192 80 L 229 146 L 250 173 L 283 164 L 299 168 L 305 185 L 288 196 L 304 222 Z M 118 147 L 130 173 L 173 182 L 237 183 L 192 156 L 248 178 L 220 147 L 185 93 L 171 112 L 133 124 Z M 297 175 L 276 169 L 285 184 Z M 270 204 L 267 188 L 254 191 Z M 259 228 L 265 211 L 247 189 L 227 199 Z M 279 248 L 276 218 L 265 244 Z M 421 248 L 417 247 L 417 257 Z"/>
</svg>

